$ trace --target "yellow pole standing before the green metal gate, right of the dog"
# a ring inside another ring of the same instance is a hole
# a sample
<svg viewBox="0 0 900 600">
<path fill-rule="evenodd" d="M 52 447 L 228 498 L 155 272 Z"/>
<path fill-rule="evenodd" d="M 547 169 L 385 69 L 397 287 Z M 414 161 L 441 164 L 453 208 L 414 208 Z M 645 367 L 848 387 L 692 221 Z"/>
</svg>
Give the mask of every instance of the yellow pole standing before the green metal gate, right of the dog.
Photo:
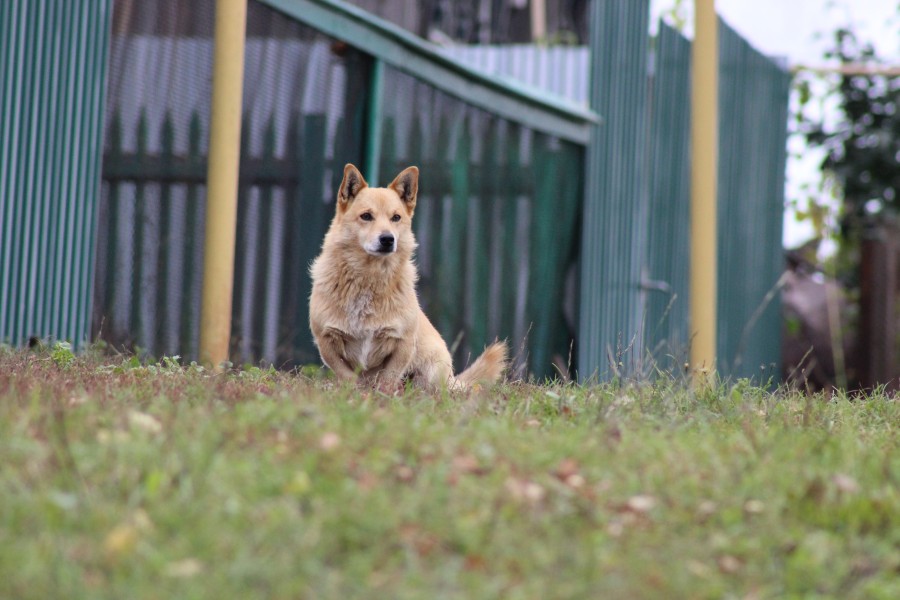
<svg viewBox="0 0 900 600">
<path fill-rule="evenodd" d="M 691 368 L 716 366 L 718 54 L 715 0 L 696 0 L 691 95 Z"/>
</svg>

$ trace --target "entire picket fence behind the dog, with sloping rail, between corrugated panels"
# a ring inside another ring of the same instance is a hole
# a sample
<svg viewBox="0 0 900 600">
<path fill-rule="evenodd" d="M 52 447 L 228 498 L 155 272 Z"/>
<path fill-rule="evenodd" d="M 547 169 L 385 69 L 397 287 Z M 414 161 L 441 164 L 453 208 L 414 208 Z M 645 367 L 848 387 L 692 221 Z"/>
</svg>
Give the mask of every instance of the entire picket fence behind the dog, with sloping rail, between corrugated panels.
<svg viewBox="0 0 900 600">
<path fill-rule="evenodd" d="M 207 78 L 198 74 L 209 72 L 212 55 L 198 18 L 211 19 L 211 5 L 200 4 L 192 31 L 144 17 L 118 22 L 113 36 L 94 315 L 96 334 L 116 346 L 186 359 L 197 356 L 209 122 Z M 385 48 L 367 54 L 336 36 L 371 27 L 368 15 L 330 12 L 339 21 L 329 31 L 309 10 L 335 7 L 250 4 L 231 355 L 279 366 L 318 361 L 308 265 L 343 164 L 364 167 L 375 184 L 417 164 L 419 291 L 441 333 L 457 342 L 457 364 L 501 337 L 523 371 L 551 374 L 574 336 L 563 291 L 577 255 L 581 144 L 542 133 L 552 112 L 543 99 L 482 76 L 486 91 L 463 100 L 405 70 L 404 60 L 379 64 L 391 42 L 412 37 L 380 24 L 367 31 Z M 473 78 L 436 52 L 427 59 Z M 525 118 L 502 116 L 503 102 L 507 115 Z M 568 137 L 586 139 L 589 111 L 561 112 Z"/>
</svg>

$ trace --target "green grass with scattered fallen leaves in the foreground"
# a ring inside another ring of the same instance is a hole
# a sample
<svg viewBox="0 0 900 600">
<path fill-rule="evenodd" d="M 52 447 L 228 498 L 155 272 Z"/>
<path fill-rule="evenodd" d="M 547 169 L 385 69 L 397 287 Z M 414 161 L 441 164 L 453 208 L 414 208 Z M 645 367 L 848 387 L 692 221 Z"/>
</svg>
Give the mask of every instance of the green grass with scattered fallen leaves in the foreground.
<svg viewBox="0 0 900 600">
<path fill-rule="evenodd" d="M 0 351 L 0 598 L 898 598 L 898 425 L 880 393 Z"/>
</svg>

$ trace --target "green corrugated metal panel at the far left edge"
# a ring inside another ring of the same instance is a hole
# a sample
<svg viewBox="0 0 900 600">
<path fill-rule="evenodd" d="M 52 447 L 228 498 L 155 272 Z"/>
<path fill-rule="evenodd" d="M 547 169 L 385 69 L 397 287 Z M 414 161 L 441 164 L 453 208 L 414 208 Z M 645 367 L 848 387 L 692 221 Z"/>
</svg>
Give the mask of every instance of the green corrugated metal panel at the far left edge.
<svg viewBox="0 0 900 600">
<path fill-rule="evenodd" d="M 0 5 L 0 341 L 87 339 L 109 24 L 108 0 Z"/>
</svg>

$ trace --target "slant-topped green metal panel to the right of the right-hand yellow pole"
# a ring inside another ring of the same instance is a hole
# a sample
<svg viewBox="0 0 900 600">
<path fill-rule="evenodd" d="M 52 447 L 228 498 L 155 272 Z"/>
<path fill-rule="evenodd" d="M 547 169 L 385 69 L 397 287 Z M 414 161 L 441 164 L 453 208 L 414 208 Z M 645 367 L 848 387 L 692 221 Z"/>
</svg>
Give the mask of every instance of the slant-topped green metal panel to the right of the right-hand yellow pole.
<svg viewBox="0 0 900 600">
<path fill-rule="evenodd" d="M 778 377 L 790 74 L 719 21 L 719 370 Z"/>
</svg>

